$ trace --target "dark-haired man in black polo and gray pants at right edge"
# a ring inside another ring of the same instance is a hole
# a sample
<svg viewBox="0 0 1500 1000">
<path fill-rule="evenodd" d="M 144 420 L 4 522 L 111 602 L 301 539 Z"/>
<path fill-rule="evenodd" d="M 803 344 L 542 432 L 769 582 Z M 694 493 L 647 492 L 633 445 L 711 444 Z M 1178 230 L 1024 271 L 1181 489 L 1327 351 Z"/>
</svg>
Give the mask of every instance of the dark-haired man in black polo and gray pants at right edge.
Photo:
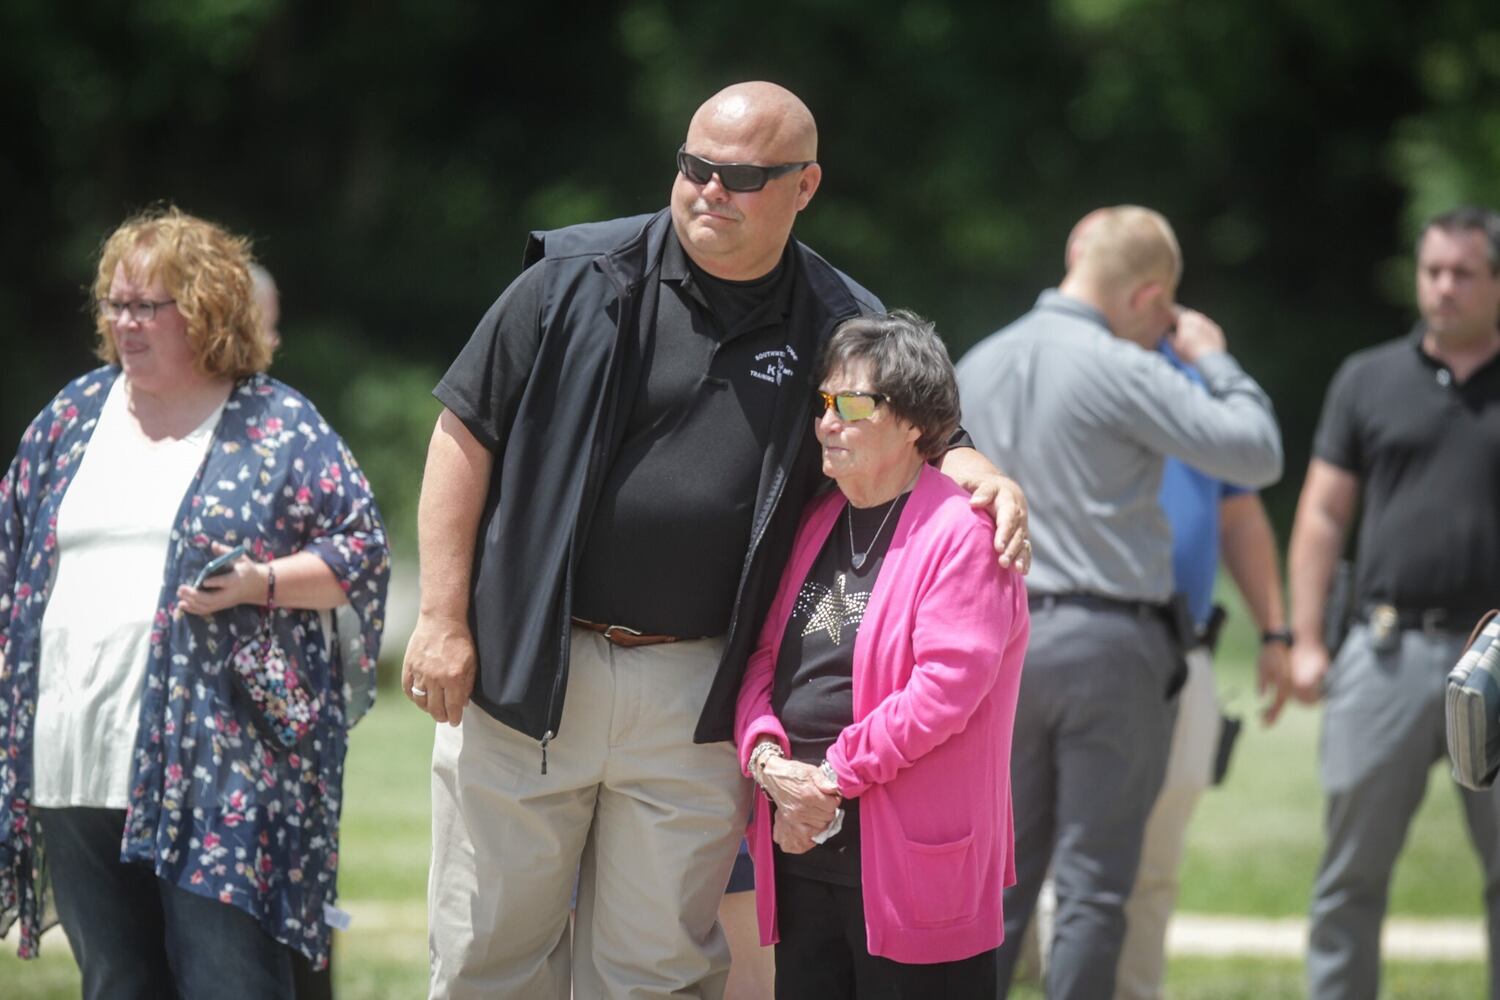
<svg viewBox="0 0 1500 1000">
<path fill-rule="evenodd" d="M 1412 336 L 1354 354 L 1334 376 L 1292 531 L 1293 693 L 1324 699 L 1314 1000 L 1378 993 L 1390 870 L 1443 756 L 1444 676 L 1500 598 L 1500 217 L 1432 219 L 1416 291 Z M 1324 595 L 1360 499 L 1358 615 L 1329 666 Z M 1458 793 L 1485 868 L 1500 997 L 1500 790 Z"/>
</svg>

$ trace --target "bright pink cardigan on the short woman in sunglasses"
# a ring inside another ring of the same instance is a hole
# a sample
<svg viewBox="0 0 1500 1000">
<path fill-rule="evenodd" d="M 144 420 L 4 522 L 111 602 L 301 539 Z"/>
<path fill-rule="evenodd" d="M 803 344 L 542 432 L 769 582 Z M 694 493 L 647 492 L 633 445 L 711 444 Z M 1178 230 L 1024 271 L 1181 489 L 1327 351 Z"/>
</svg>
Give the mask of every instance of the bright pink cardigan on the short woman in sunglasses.
<svg viewBox="0 0 1500 1000">
<path fill-rule="evenodd" d="M 782 633 L 844 498 L 818 498 L 746 667 L 735 711 L 741 766 L 762 736 L 789 751 L 771 714 Z M 956 961 L 1005 937 L 1016 882 L 1011 727 L 1029 616 L 1020 576 L 999 568 L 994 525 L 924 466 L 902 511 L 854 646 L 854 717 L 828 751 L 860 799 L 864 924 L 872 955 Z M 760 942 L 778 940 L 771 810 L 750 820 Z"/>
</svg>

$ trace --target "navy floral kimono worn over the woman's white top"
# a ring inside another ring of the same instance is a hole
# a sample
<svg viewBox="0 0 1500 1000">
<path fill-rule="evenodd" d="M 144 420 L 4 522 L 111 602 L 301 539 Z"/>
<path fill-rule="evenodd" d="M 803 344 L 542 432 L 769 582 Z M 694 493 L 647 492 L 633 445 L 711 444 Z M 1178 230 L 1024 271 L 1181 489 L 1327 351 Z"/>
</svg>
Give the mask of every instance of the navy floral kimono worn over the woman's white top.
<svg viewBox="0 0 1500 1000">
<path fill-rule="evenodd" d="M 57 510 L 118 375 L 102 367 L 64 387 L 0 481 L 0 933 L 20 919 L 26 958 L 46 909 L 32 738 Z M 316 553 L 348 595 L 333 613 L 270 615 L 320 703 L 290 750 L 256 730 L 228 666 L 262 628 L 264 609 L 204 618 L 177 607 L 177 586 L 212 558 L 213 541 L 246 541 L 262 561 Z M 246 910 L 316 967 L 328 957 L 324 907 L 336 900 L 346 730 L 374 700 L 388 577 L 386 529 L 344 441 L 296 390 L 266 375 L 242 379 L 168 543 L 120 853 Z"/>
</svg>

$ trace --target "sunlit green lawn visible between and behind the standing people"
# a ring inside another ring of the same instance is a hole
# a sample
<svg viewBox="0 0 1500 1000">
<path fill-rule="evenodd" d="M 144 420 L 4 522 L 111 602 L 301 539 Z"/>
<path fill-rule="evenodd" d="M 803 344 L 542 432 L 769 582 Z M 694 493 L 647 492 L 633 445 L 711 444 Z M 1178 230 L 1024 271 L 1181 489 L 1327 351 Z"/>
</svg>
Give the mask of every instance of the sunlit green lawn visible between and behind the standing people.
<svg viewBox="0 0 1500 1000">
<path fill-rule="evenodd" d="M 1306 912 L 1322 847 L 1316 711 L 1288 708 L 1272 729 L 1254 715 L 1254 639 L 1236 612 L 1220 658 L 1220 690 L 1246 715 L 1228 783 L 1209 792 L 1190 832 L 1180 910 L 1248 916 Z M 394 691 L 354 730 L 346 774 L 340 900 L 354 927 L 338 936 L 334 975 L 342 1000 L 426 993 L 426 874 L 430 831 L 428 774 L 432 723 Z M 1434 768 L 1396 870 L 1390 912 L 1473 918 L 1478 862 L 1460 831 L 1452 781 Z M 76 997 L 78 973 L 62 937 L 44 958 L 20 963 L 0 949 L 0 996 L 8 1000 Z M 1474 997 L 1482 963 L 1388 963 L 1388 997 Z M 1167 987 L 1174 1000 L 1302 996 L 1302 966 L 1287 960 L 1176 958 Z M 1041 994 L 1020 984 L 1016 997 Z"/>
</svg>

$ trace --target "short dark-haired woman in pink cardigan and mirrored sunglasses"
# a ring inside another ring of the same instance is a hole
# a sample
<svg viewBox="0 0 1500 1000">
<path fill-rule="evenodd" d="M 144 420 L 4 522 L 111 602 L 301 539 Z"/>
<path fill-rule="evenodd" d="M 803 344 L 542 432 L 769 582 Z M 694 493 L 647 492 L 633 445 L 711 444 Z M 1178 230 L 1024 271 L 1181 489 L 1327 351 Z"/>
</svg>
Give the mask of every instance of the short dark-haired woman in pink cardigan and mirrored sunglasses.
<svg viewBox="0 0 1500 1000">
<path fill-rule="evenodd" d="M 993 997 L 1024 588 L 928 465 L 958 423 L 932 325 L 850 319 L 819 370 L 838 489 L 802 517 L 736 712 L 776 996 Z"/>
</svg>

